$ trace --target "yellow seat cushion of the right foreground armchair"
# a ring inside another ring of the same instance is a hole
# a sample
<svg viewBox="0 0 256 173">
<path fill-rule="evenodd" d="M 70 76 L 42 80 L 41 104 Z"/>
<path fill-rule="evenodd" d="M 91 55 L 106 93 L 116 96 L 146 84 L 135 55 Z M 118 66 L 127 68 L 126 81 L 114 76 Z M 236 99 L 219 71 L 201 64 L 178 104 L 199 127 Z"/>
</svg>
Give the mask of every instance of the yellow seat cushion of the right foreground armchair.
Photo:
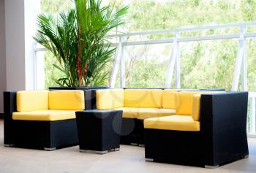
<svg viewBox="0 0 256 173">
<path fill-rule="evenodd" d="M 187 115 L 172 115 L 144 120 L 144 128 L 172 131 L 200 131 L 200 122 Z"/>
</svg>

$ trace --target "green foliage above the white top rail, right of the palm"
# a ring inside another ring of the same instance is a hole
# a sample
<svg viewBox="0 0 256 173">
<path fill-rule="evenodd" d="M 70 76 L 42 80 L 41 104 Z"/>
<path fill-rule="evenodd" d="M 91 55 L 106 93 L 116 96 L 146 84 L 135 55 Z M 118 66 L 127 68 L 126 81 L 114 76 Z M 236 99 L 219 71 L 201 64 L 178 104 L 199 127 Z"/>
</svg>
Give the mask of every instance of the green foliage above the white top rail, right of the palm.
<svg viewBox="0 0 256 173">
<path fill-rule="evenodd" d="M 129 31 L 180 28 L 256 19 L 254 0 L 134 0 Z"/>
</svg>

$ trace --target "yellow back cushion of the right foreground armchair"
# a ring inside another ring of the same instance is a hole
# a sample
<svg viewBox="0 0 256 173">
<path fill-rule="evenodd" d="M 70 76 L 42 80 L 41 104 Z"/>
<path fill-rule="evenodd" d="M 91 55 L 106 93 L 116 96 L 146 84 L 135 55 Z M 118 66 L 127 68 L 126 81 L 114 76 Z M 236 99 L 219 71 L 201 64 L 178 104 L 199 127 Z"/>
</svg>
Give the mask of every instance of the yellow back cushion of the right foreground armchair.
<svg viewBox="0 0 256 173">
<path fill-rule="evenodd" d="M 209 92 L 178 92 L 175 94 L 176 115 L 192 115 L 193 96 L 198 93 Z"/>
</svg>

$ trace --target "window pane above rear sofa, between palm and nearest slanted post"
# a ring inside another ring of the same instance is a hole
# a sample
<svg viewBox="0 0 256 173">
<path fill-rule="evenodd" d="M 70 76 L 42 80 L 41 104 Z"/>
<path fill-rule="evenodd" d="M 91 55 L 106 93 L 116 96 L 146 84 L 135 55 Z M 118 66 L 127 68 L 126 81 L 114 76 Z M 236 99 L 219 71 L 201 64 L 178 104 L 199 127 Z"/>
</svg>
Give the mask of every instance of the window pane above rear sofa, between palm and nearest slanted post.
<svg viewBox="0 0 256 173">
<path fill-rule="evenodd" d="M 125 52 L 127 87 L 165 87 L 170 45 L 129 46 Z"/>
</svg>

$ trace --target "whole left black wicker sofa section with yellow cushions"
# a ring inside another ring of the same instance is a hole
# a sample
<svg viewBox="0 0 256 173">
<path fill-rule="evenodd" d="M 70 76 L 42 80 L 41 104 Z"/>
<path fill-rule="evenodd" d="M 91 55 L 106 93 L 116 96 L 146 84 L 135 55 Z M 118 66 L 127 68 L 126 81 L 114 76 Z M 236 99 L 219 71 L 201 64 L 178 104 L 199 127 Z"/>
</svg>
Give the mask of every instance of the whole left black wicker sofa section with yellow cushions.
<svg viewBox="0 0 256 173">
<path fill-rule="evenodd" d="M 55 150 L 78 145 L 83 91 L 4 92 L 4 145 Z"/>
</svg>

